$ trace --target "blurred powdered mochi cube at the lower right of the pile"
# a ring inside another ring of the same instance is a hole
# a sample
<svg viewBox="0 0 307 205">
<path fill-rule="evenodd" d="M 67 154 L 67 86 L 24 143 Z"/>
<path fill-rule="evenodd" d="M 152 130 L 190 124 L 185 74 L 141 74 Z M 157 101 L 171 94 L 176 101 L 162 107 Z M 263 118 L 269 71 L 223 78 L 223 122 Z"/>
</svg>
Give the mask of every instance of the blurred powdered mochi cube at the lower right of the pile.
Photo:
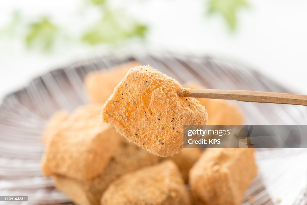
<svg viewBox="0 0 307 205">
<path fill-rule="evenodd" d="M 189 173 L 196 202 L 210 205 L 240 205 L 257 173 L 254 149 L 207 149 Z"/>
</svg>

